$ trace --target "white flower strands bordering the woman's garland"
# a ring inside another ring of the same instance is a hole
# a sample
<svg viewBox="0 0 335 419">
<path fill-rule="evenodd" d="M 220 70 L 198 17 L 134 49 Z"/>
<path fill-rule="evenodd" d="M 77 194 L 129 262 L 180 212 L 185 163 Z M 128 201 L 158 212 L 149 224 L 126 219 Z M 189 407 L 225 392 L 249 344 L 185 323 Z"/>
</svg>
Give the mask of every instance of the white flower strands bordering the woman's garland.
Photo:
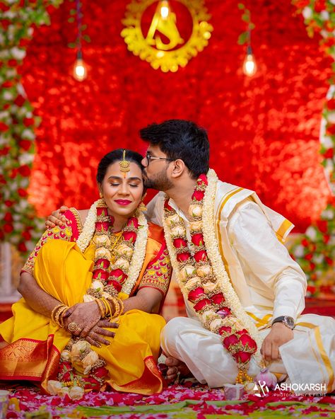
<svg viewBox="0 0 335 419">
<path fill-rule="evenodd" d="M 93 239 L 95 233 L 95 222 L 97 221 L 97 207 L 101 205 L 102 202 L 104 201 L 95 201 L 88 211 L 83 231 L 81 231 L 81 234 L 76 242 L 82 252 L 86 250 L 88 244 Z M 131 290 L 136 284 L 136 280 L 141 272 L 143 261 L 146 256 L 146 242 L 148 241 L 148 222 L 146 221 L 146 217 L 144 217 L 143 212 L 138 212 L 136 216 L 139 219 L 139 229 L 134 245 L 134 253 L 131 257 L 128 277 L 124 282 L 124 285 L 122 285 L 122 292 L 128 295 L 131 293 Z"/>
</svg>

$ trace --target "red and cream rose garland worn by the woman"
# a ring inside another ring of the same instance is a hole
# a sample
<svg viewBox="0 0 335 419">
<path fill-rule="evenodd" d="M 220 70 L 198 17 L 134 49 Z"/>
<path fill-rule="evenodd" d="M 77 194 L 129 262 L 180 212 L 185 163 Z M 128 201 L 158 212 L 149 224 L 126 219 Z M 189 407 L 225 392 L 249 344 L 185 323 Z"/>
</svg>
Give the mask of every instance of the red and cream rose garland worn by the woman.
<svg viewBox="0 0 335 419">
<path fill-rule="evenodd" d="M 112 243 L 113 222 L 114 218 L 108 215 L 105 201 L 95 201 L 90 207 L 77 244 L 83 252 L 91 240 L 95 242 L 92 285 L 86 291 L 83 301 L 99 302 L 100 299 L 107 299 L 112 301 L 116 309 L 114 297 L 119 292 L 129 296 L 141 272 L 146 255 L 148 222 L 143 213 L 138 212 L 136 217 L 128 219 L 121 236 Z M 112 251 L 115 253 L 115 260 L 111 265 Z M 100 304 L 98 306 L 100 308 Z M 107 309 L 110 311 L 109 307 Z M 114 313 L 114 316 L 117 314 Z M 105 365 L 105 360 L 90 348 L 86 340 L 72 337 L 61 352 L 59 381 L 49 380 L 47 389 L 50 394 L 68 394 L 74 400 L 80 399 L 84 391 L 102 390 L 108 376 Z"/>
</svg>

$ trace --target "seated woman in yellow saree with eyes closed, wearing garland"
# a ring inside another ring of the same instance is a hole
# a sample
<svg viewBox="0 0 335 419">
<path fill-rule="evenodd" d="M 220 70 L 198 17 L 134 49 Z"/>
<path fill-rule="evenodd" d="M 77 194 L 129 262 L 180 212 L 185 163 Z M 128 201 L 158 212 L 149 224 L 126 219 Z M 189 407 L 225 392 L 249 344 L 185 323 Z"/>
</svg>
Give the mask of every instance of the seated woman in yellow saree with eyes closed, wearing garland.
<svg viewBox="0 0 335 419">
<path fill-rule="evenodd" d="M 163 229 L 146 222 L 142 156 L 117 149 L 98 166 L 100 200 L 68 209 L 25 263 L 13 317 L 0 325 L 0 379 L 81 398 L 105 389 L 153 394 L 159 316 L 170 282 Z"/>
</svg>

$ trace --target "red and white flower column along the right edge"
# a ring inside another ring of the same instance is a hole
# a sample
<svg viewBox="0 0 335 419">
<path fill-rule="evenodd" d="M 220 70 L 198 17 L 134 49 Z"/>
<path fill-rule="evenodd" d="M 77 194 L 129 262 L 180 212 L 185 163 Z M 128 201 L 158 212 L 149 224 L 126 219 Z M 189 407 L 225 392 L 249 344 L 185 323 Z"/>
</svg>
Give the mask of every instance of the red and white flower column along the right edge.
<svg viewBox="0 0 335 419">
<path fill-rule="evenodd" d="M 293 0 L 298 13 L 305 20 L 307 34 L 312 38 L 321 35 L 320 49 L 335 59 L 335 1 L 334 0 Z M 333 63 L 335 69 L 335 64 Z M 331 193 L 335 194 L 335 88 L 334 76 L 327 94 L 327 102 L 322 113 L 320 130 L 322 166 L 326 173 Z M 335 294 L 335 201 L 329 202 L 322 211 L 320 219 L 309 226 L 291 249 L 295 260 L 304 270 L 307 280 L 307 295 Z"/>
</svg>

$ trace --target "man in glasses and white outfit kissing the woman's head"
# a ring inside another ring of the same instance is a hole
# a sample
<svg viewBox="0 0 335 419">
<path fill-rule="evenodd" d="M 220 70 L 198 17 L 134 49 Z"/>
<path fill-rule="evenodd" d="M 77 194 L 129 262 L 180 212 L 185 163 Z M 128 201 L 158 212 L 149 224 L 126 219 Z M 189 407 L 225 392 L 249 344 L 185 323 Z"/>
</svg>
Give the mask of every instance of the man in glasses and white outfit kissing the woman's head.
<svg viewBox="0 0 335 419">
<path fill-rule="evenodd" d="M 293 225 L 208 171 L 208 137 L 194 122 L 167 120 L 140 135 L 146 187 L 162 191 L 148 218 L 164 226 L 188 316 L 163 329 L 167 378 L 189 369 L 211 387 L 243 381 L 259 372 L 258 348 L 278 379 L 331 392 L 335 321 L 300 316 L 305 275 L 283 246 Z"/>
</svg>

